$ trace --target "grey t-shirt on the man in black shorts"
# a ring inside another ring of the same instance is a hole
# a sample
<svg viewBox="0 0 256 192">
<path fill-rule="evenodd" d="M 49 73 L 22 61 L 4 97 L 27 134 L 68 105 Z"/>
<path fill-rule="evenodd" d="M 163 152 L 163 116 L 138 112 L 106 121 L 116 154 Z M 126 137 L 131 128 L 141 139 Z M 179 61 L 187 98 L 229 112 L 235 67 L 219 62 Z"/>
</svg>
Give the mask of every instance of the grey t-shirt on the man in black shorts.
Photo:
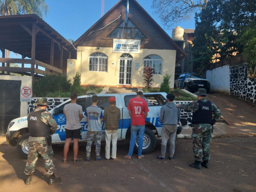
<svg viewBox="0 0 256 192">
<path fill-rule="evenodd" d="M 81 124 L 79 120 L 79 114 L 83 114 L 82 106 L 76 103 L 69 103 L 64 106 L 63 111 L 67 118 L 66 129 L 80 129 Z"/>
</svg>

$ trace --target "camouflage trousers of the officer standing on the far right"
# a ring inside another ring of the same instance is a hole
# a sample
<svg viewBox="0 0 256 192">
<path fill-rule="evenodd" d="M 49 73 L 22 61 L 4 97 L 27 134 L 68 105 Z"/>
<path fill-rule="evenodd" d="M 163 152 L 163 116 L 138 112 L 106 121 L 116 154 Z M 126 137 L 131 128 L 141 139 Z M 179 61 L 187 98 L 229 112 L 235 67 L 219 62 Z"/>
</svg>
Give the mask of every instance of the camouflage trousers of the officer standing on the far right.
<svg viewBox="0 0 256 192">
<path fill-rule="evenodd" d="M 212 139 L 212 126 L 210 124 L 194 124 L 192 143 L 196 161 L 210 160 L 210 142 Z"/>
</svg>

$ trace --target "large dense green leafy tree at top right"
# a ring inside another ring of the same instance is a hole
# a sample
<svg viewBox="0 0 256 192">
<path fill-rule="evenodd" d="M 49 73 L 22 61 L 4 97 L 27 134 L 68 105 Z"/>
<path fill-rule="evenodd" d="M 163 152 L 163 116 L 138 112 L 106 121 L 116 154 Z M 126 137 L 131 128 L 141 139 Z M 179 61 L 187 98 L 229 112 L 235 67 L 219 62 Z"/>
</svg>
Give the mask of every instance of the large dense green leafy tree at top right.
<svg viewBox="0 0 256 192">
<path fill-rule="evenodd" d="M 255 33 L 241 37 L 256 26 L 255 17 L 255 0 L 209 0 L 206 8 L 195 17 L 192 47 L 193 58 L 197 62 L 195 66 L 212 63 L 214 56 L 223 60 L 233 54 L 243 53 L 244 47 L 249 47 L 245 38 L 252 39 Z"/>
</svg>

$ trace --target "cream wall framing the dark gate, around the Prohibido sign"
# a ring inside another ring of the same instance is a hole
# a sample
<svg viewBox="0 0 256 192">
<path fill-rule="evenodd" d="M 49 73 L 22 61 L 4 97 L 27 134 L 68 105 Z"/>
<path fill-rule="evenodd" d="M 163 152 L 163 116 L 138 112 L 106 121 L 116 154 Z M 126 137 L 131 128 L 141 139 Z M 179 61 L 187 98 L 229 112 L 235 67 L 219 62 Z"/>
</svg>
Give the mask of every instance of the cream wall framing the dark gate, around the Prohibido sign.
<svg viewBox="0 0 256 192">
<path fill-rule="evenodd" d="M 21 81 L 21 86 L 32 86 L 31 76 L 0 75 L 1 80 Z M 20 102 L 20 117 L 27 115 L 27 102 Z"/>
</svg>

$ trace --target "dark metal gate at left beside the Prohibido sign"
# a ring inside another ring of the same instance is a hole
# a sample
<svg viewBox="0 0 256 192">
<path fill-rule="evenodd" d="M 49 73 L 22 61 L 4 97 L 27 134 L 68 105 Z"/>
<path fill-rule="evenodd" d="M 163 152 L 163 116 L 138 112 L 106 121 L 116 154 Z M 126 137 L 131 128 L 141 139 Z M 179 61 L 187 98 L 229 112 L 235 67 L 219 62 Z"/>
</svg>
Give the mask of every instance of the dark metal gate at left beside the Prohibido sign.
<svg viewBox="0 0 256 192">
<path fill-rule="evenodd" d="M 20 117 L 21 81 L 0 80 L 0 134 L 7 132 L 9 122 Z"/>
</svg>

